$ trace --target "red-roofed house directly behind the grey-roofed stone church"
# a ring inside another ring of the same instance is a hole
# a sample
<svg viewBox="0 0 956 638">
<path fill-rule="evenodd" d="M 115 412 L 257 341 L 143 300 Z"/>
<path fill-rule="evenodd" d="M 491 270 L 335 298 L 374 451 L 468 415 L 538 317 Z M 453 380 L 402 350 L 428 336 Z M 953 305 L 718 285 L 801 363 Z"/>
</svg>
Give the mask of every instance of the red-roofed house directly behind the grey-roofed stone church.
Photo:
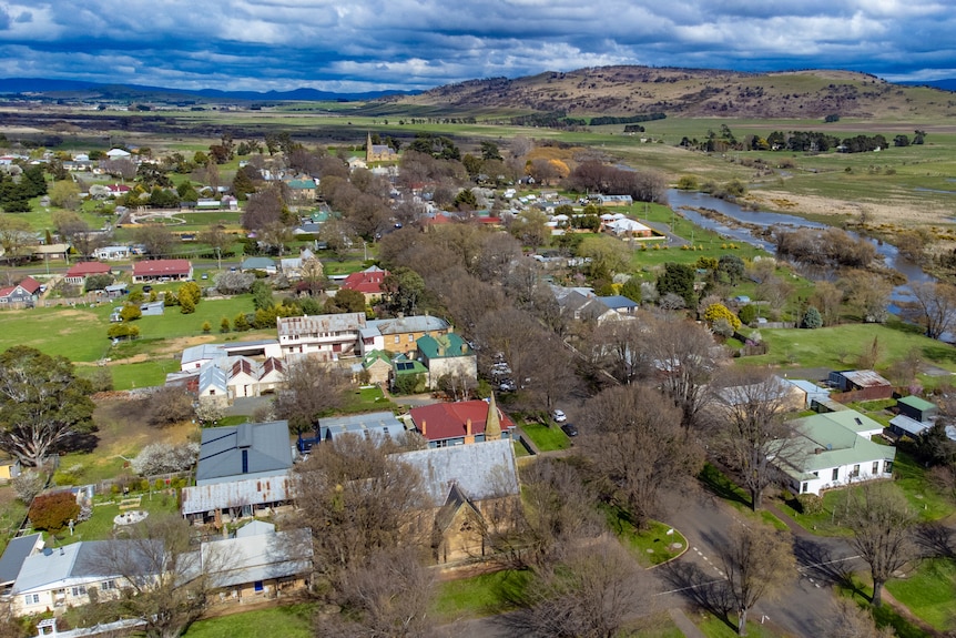
<svg viewBox="0 0 956 638">
<path fill-rule="evenodd" d="M 515 422 L 498 409 L 495 396 L 457 403 L 436 403 L 411 408 L 411 421 L 429 447 L 467 445 L 498 438 L 511 438 Z"/>
</svg>

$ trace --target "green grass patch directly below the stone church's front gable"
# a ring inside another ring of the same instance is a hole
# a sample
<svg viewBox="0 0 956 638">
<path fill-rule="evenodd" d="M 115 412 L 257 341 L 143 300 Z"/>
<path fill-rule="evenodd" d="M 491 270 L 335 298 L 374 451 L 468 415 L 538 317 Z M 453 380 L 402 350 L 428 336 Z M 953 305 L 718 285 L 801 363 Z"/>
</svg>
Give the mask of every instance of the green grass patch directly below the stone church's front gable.
<svg viewBox="0 0 956 638">
<path fill-rule="evenodd" d="M 431 614 L 439 622 L 501 614 L 512 608 L 509 600 L 519 596 L 530 579 L 530 571 L 505 569 L 439 583 Z"/>
</svg>

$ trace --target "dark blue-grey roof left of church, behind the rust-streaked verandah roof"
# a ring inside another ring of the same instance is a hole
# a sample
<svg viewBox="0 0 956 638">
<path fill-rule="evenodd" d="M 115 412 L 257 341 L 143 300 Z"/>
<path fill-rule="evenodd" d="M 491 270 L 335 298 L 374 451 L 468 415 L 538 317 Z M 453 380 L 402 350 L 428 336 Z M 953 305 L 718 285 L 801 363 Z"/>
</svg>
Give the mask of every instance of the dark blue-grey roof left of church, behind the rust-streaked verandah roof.
<svg viewBox="0 0 956 638">
<path fill-rule="evenodd" d="M 287 421 L 202 431 L 196 485 L 279 474 L 292 467 Z"/>
</svg>

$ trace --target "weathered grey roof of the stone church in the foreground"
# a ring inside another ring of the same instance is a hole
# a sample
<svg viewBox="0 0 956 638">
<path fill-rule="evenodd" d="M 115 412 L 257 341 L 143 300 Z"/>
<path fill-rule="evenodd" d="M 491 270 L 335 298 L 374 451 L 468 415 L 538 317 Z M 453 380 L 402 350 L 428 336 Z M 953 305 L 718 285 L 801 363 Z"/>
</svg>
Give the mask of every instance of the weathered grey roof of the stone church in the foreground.
<svg viewBox="0 0 956 638">
<path fill-rule="evenodd" d="M 425 489 L 436 507 L 445 504 L 455 483 L 472 500 L 519 492 L 515 447 L 510 439 L 430 447 L 394 457 L 421 473 Z"/>
</svg>

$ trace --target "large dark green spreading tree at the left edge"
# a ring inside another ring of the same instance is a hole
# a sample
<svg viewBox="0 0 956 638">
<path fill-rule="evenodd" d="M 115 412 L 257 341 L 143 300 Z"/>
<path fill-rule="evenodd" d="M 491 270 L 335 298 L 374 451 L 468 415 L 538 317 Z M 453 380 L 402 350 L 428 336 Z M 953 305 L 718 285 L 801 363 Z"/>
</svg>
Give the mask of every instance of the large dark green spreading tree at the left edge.
<svg viewBox="0 0 956 638">
<path fill-rule="evenodd" d="M 39 465 L 55 445 L 94 429 L 90 394 L 65 357 L 9 348 L 0 354 L 0 449 Z"/>
</svg>

